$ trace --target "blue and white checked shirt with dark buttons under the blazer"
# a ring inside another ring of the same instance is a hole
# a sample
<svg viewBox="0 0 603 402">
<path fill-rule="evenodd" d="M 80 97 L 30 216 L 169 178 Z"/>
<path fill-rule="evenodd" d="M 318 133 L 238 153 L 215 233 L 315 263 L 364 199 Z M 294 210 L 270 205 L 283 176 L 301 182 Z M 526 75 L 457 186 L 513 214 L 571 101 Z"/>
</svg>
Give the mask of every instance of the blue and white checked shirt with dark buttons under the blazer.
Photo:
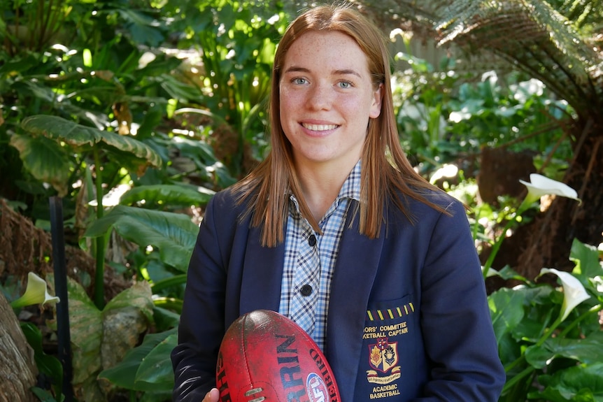
<svg viewBox="0 0 603 402">
<path fill-rule="evenodd" d="M 285 233 L 285 261 L 279 313 L 297 322 L 317 343 L 325 346 L 329 289 L 339 252 L 339 241 L 350 199 L 360 201 L 360 161 L 354 166 L 339 195 L 322 220 L 322 236 L 314 232 L 299 213 L 299 204 L 290 195 Z"/>
</svg>

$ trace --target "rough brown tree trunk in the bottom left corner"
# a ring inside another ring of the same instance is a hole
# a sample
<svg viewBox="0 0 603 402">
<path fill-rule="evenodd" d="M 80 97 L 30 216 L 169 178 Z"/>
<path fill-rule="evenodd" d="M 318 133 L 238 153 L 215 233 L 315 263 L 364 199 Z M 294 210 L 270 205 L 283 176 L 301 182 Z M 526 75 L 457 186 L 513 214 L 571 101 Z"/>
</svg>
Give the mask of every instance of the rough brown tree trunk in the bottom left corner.
<svg viewBox="0 0 603 402">
<path fill-rule="evenodd" d="M 38 401 L 29 388 L 38 370 L 19 320 L 0 293 L 0 402 Z"/>
</svg>

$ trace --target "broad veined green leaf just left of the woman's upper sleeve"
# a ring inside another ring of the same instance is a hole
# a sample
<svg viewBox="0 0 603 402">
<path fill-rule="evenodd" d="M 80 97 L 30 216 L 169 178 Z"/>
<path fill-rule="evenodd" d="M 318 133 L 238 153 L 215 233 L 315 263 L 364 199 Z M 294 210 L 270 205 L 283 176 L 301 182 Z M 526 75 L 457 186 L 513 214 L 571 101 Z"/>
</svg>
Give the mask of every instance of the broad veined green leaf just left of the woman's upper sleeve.
<svg viewBox="0 0 603 402">
<path fill-rule="evenodd" d="M 162 261 L 183 272 L 187 271 L 199 232 L 197 225 L 184 214 L 115 206 L 90 225 L 84 236 L 104 236 L 111 228 L 141 247 L 157 247 Z M 84 239 L 80 245 L 85 247 Z"/>
</svg>

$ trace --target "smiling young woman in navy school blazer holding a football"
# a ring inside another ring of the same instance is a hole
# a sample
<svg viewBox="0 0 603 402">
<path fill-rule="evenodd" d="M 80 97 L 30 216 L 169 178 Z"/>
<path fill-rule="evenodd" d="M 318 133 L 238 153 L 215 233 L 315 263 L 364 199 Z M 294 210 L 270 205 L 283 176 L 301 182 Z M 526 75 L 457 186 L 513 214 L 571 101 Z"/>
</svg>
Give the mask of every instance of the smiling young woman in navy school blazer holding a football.
<svg viewBox="0 0 603 402">
<path fill-rule="evenodd" d="M 188 271 L 174 401 L 218 401 L 243 313 L 291 317 L 343 402 L 497 401 L 500 364 L 467 215 L 400 148 L 383 35 L 346 6 L 278 45 L 271 152 L 206 208 Z"/>
</svg>

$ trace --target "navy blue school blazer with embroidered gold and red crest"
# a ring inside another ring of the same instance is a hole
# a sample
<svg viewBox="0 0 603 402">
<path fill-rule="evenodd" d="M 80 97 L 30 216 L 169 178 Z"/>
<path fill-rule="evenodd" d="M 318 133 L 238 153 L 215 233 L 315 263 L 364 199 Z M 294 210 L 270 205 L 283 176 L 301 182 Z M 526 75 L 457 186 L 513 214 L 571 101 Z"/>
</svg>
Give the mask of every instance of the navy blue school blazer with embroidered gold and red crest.
<svg viewBox="0 0 603 402">
<path fill-rule="evenodd" d="M 343 402 L 499 397 L 505 374 L 467 215 L 450 196 L 434 201 L 453 215 L 408 200 L 414 224 L 390 208 L 376 239 L 359 233 L 357 214 L 347 218 L 324 350 Z M 237 317 L 278 311 L 284 245 L 262 247 L 242 210 L 228 190 L 206 208 L 171 356 L 174 401 L 201 401 L 215 387 L 218 348 Z"/>
</svg>

